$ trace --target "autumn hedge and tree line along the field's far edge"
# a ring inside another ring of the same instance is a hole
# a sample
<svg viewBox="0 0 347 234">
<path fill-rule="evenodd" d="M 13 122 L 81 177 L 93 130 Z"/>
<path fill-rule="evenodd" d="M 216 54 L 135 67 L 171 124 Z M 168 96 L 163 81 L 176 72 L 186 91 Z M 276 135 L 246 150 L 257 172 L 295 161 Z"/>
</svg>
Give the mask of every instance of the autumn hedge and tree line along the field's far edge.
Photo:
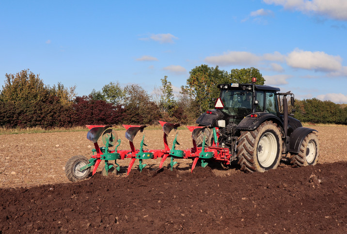
<svg viewBox="0 0 347 234">
<path fill-rule="evenodd" d="M 203 64 L 189 72 L 187 84 L 181 86 L 178 95 L 174 95 L 172 83 L 165 76 L 153 94 L 148 94 L 138 84 L 121 87 L 115 81 L 104 85 L 100 91 L 76 96 L 76 86 L 67 88 L 58 83 L 50 87 L 29 69 L 5 77 L 0 92 L 0 126 L 10 128 L 143 125 L 155 124 L 158 120 L 194 124 L 201 113 L 213 109 L 212 98 L 219 96 L 217 84 L 250 83 L 252 77 L 257 78 L 257 84 L 265 82 L 254 67 L 227 72 L 218 66 Z M 296 104 L 295 117 L 300 121 L 347 122 L 347 107 L 315 98 L 297 100 Z"/>
</svg>

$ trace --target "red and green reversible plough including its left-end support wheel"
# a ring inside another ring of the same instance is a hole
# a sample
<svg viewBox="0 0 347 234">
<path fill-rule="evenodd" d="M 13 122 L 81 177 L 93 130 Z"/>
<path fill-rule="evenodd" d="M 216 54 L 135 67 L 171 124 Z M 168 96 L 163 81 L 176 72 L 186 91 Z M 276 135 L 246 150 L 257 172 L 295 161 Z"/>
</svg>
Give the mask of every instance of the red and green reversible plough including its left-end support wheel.
<svg viewBox="0 0 347 234">
<path fill-rule="evenodd" d="M 203 138 L 201 146 L 197 146 L 197 138 L 199 133 L 205 128 L 205 126 L 188 126 L 190 132 L 192 132 L 192 141 L 193 147 L 187 150 L 177 149 L 179 145 L 177 141 L 178 133 L 173 140 L 172 148 L 170 149 L 167 141 L 169 133 L 174 129 L 176 130 L 180 124 L 171 124 L 159 121 L 164 132 L 164 150 L 144 150 L 143 146 L 147 146 L 144 143 L 143 135 L 140 149 L 136 150 L 133 144 L 133 140 L 136 134 L 147 125 L 123 125 L 126 128 L 126 139 L 129 140 L 130 150 L 118 150 L 118 146 L 121 144 L 121 140 L 118 139 L 117 133 L 112 129 L 112 125 L 87 125 L 90 129 L 87 133 L 87 139 L 94 143 L 95 148 L 92 150 L 93 155 L 88 160 L 84 156 L 73 156 L 70 158 L 65 166 L 65 173 L 69 180 L 76 181 L 78 179 L 86 178 L 93 168 L 93 175 L 95 174 L 100 162 L 103 160 L 105 162 L 105 167 L 102 169 L 103 175 L 108 175 L 110 172 L 118 172 L 120 166 L 117 163 L 117 160 L 123 160 L 130 158 L 130 163 L 127 168 L 127 175 L 130 173 L 131 168 L 133 167 L 135 161 L 139 159 L 139 169 L 142 172 L 142 169 L 147 165 L 144 163 L 145 159 L 157 159 L 161 158 L 159 169 L 163 167 L 164 161 L 170 157 L 170 169 L 173 170 L 174 165 L 177 163 L 174 161 L 175 158 L 185 158 L 192 159 L 191 172 L 193 172 L 197 162 L 201 161 L 201 166 L 206 167 L 208 162 L 207 159 L 214 159 L 221 161 L 223 164 L 228 165 L 231 161 L 231 154 L 228 148 L 219 147 L 218 143 L 218 128 L 213 128 L 213 139 L 212 146 L 206 146 L 205 137 Z M 98 144 L 98 139 L 102 136 L 102 141 L 105 147 L 100 147 Z M 110 149 L 115 146 L 115 149 Z M 114 164 L 109 161 L 114 160 Z"/>
</svg>

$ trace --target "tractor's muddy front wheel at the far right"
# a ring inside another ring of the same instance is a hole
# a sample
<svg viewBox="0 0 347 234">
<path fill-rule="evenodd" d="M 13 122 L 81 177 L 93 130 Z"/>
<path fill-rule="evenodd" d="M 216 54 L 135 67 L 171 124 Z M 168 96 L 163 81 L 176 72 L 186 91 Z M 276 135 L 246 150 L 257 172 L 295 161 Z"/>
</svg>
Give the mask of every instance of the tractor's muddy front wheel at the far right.
<svg viewBox="0 0 347 234">
<path fill-rule="evenodd" d="M 318 162 L 318 156 L 318 137 L 314 132 L 311 132 L 302 140 L 299 153 L 291 156 L 290 163 L 293 167 L 315 165 Z"/>
</svg>

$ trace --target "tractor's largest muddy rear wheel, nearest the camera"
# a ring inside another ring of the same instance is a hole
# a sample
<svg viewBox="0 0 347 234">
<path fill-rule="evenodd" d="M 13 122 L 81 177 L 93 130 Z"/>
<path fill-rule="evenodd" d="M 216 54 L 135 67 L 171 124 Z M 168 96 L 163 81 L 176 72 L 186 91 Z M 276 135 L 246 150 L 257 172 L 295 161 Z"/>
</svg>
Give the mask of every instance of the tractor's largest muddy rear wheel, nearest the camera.
<svg viewBox="0 0 347 234">
<path fill-rule="evenodd" d="M 237 159 L 244 172 L 276 169 L 282 156 L 282 137 L 277 124 L 266 121 L 253 131 L 241 131 Z"/>
</svg>

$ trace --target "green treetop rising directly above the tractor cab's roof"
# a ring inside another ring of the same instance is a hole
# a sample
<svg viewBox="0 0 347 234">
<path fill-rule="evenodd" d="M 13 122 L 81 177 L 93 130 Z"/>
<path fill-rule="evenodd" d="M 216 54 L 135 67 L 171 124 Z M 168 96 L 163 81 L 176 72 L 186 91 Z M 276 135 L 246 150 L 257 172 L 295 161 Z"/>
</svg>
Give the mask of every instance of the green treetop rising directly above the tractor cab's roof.
<svg viewBox="0 0 347 234">
<path fill-rule="evenodd" d="M 257 78 L 256 84 L 264 85 L 265 79 L 257 68 L 249 67 L 242 69 L 231 69 L 229 74 L 230 83 L 251 84 L 252 78 Z"/>
</svg>

